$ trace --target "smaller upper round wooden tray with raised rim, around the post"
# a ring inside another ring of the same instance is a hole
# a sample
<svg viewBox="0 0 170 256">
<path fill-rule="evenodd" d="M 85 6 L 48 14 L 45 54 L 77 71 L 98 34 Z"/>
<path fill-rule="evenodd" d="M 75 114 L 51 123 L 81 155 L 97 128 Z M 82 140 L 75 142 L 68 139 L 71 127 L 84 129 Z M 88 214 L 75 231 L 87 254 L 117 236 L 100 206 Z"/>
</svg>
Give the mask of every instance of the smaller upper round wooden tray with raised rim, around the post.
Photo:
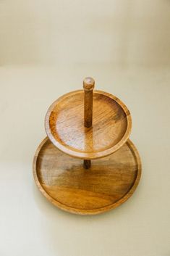
<svg viewBox="0 0 170 256">
<path fill-rule="evenodd" d="M 84 91 L 61 96 L 48 109 L 46 133 L 61 151 L 85 160 L 116 152 L 129 138 L 131 115 L 116 96 L 93 92 L 93 127 L 84 127 Z"/>
</svg>

